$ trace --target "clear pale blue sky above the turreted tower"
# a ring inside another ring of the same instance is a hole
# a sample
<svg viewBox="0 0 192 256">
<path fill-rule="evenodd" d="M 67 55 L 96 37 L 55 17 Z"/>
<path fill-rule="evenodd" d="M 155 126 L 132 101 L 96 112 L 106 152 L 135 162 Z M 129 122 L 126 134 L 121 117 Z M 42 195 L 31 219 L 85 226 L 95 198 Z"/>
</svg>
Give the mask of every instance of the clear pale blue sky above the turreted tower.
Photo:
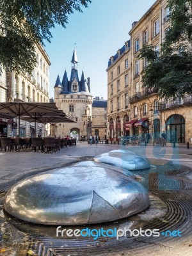
<svg viewBox="0 0 192 256">
<path fill-rule="evenodd" d="M 54 98 L 58 74 L 62 81 L 65 69 L 70 79 L 74 47 L 77 52 L 78 74 L 90 77 L 91 93 L 107 99 L 109 58 L 129 40 L 131 24 L 139 20 L 156 0 L 92 0 L 83 13 L 68 16 L 66 28 L 56 25 L 51 30 L 51 44 L 45 51 L 51 61 L 49 96 Z"/>
</svg>

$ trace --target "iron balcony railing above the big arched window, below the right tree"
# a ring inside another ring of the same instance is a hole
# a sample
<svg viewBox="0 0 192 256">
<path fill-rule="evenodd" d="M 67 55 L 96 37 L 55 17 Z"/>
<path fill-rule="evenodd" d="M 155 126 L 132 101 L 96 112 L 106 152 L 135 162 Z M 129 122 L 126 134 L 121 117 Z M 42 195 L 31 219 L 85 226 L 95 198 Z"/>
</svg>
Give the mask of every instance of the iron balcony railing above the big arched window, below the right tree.
<svg viewBox="0 0 192 256">
<path fill-rule="evenodd" d="M 159 111 L 164 109 L 177 108 L 182 105 L 191 105 L 192 104 L 192 95 L 185 96 L 183 98 L 177 98 L 175 100 L 169 100 L 168 102 L 162 102 L 159 104 Z"/>
</svg>

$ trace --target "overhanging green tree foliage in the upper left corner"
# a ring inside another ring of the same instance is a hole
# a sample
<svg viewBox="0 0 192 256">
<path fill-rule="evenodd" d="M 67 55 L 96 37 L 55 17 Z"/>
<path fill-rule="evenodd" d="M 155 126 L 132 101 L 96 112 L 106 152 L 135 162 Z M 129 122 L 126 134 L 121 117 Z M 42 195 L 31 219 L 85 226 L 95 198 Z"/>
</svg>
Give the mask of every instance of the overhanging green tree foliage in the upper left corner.
<svg viewBox="0 0 192 256">
<path fill-rule="evenodd" d="M 55 24 L 65 28 L 68 15 L 82 12 L 90 0 L 0 0 L 0 65 L 8 70 L 31 73 L 35 44 L 51 42 Z M 0 70 L 1 72 L 1 70 Z"/>
</svg>

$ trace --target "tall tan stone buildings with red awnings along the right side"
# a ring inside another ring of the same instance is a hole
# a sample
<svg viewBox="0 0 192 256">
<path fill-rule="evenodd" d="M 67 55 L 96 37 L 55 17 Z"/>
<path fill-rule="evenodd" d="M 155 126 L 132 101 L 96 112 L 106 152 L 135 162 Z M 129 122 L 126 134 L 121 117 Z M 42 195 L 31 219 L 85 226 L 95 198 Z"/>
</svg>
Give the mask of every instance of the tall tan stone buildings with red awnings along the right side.
<svg viewBox="0 0 192 256">
<path fill-rule="evenodd" d="M 129 31 L 130 40 L 108 62 L 108 137 L 134 135 L 145 141 L 149 132 L 156 141 L 166 131 L 167 142 L 192 142 L 191 95 L 185 99 L 159 99 L 156 90 L 143 88 L 147 59 L 140 59 L 144 44 L 157 54 L 169 29 L 167 1 L 156 1 Z"/>
</svg>

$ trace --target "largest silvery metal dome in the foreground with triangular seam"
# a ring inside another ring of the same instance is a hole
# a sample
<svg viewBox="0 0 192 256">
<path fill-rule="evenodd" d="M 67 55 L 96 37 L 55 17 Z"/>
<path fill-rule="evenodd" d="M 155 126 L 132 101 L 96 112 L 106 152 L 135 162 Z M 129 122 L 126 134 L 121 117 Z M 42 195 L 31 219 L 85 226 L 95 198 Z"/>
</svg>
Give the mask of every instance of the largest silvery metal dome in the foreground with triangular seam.
<svg viewBox="0 0 192 256">
<path fill-rule="evenodd" d="M 134 179 L 95 166 L 70 166 L 22 180 L 5 196 L 13 216 L 47 225 L 81 225 L 125 218 L 149 205 Z"/>
</svg>

